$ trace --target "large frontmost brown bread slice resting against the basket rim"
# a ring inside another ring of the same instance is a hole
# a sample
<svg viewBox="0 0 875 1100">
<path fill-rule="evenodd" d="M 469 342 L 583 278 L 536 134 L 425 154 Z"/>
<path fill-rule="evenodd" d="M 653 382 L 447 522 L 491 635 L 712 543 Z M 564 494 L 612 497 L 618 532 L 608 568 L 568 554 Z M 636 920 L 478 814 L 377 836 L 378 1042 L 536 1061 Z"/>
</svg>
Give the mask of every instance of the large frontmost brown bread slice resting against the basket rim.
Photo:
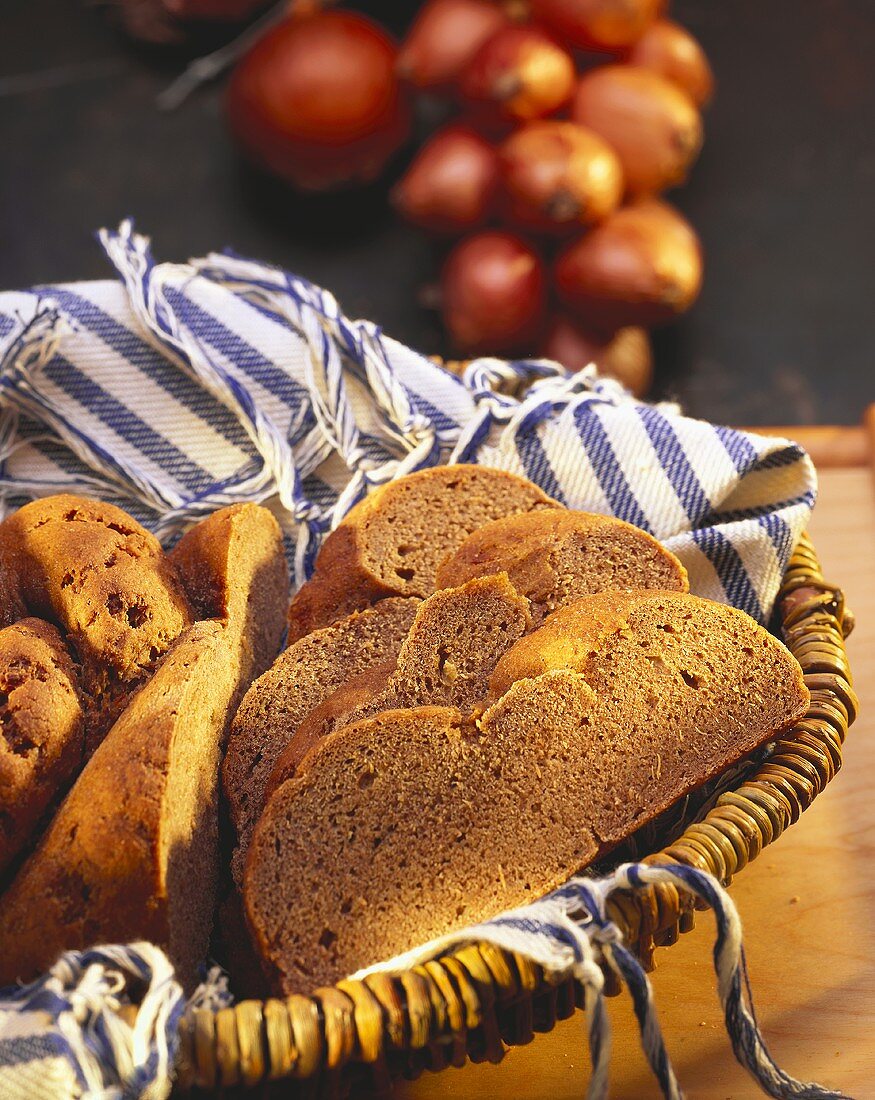
<svg viewBox="0 0 875 1100">
<path fill-rule="evenodd" d="M 518 641 L 478 724 L 451 707 L 384 712 L 327 737 L 277 789 L 244 882 L 276 990 L 540 897 L 808 705 L 787 650 L 733 608 L 638 592 L 564 615 L 586 640 L 557 645 L 548 619 Z"/>
</svg>

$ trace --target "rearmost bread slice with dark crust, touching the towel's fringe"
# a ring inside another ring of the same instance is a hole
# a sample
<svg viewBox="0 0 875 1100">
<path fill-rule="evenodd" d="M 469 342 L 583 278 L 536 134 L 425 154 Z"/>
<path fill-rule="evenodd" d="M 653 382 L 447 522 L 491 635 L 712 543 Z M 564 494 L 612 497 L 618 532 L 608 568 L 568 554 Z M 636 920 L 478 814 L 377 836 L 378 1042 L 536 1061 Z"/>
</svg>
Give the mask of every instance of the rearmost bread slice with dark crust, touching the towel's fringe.
<svg viewBox="0 0 875 1100">
<path fill-rule="evenodd" d="M 434 466 L 381 486 L 322 543 L 292 601 L 289 641 L 386 596 L 428 596 L 440 562 L 500 516 L 558 507 L 532 482 L 486 466 Z"/>
</svg>

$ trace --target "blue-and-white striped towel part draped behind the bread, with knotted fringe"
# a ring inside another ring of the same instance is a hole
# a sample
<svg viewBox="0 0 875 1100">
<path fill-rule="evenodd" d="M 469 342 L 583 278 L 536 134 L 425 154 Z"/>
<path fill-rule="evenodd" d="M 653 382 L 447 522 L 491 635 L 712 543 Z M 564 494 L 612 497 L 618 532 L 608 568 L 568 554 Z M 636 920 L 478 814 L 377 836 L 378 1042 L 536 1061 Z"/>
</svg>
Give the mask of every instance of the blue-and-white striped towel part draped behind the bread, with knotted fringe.
<svg viewBox="0 0 875 1100">
<path fill-rule="evenodd" d="M 0 294 L 0 507 L 91 493 L 167 541 L 260 501 L 299 584 L 370 490 L 479 462 L 637 524 L 693 592 L 768 617 L 814 502 L 795 443 L 643 404 L 594 369 L 479 359 L 459 378 L 280 268 L 156 264 L 129 222 L 101 241 L 121 282 Z"/>
</svg>

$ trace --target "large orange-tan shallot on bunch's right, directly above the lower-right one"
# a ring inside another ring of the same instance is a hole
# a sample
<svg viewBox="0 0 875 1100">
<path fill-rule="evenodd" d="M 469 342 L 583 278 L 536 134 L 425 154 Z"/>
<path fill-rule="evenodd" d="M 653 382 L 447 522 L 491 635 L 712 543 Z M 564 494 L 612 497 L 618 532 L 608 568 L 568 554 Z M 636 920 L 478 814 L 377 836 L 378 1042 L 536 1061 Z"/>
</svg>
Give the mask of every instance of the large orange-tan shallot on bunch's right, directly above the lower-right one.
<svg viewBox="0 0 875 1100">
<path fill-rule="evenodd" d="M 603 65 L 587 73 L 571 117 L 613 146 L 634 196 L 683 183 L 702 146 L 702 119 L 689 96 L 638 66 Z"/>
</svg>

